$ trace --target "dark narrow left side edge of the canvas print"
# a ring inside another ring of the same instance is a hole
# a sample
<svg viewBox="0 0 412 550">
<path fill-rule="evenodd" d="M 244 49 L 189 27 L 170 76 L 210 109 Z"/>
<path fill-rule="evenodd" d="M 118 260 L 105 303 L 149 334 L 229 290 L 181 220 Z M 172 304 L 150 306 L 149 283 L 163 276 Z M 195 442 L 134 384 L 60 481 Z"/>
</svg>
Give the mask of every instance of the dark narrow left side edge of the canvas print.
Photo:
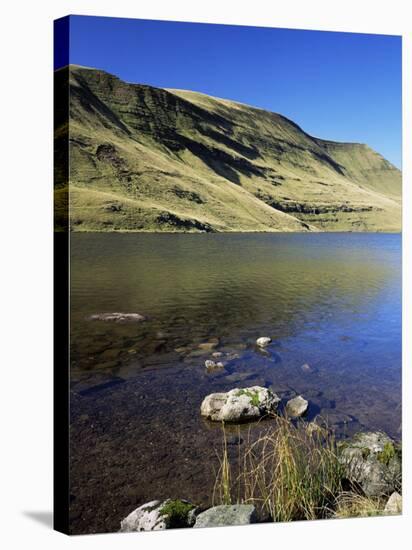
<svg viewBox="0 0 412 550">
<path fill-rule="evenodd" d="M 54 67 L 68 65 L 70 18 L 54 21 Z M 62 122 L 67 132 L 54 137 L 53 239 L 53 528 L 69 534 L 69 78 L 68 71 L 54 73 L 54 130 Z M 63 184 L 63 187 L 61 185 Z"/>
</svg>

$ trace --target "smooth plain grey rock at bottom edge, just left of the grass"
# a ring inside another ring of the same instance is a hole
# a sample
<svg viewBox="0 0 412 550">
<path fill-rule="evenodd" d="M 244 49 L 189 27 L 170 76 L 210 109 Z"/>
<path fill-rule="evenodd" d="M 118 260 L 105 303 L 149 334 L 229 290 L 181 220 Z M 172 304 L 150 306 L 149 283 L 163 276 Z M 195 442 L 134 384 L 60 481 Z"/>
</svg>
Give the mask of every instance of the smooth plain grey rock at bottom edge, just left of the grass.
<svg viewBox="0 0 412 550">
<path fill-rule="evenodd" d="M 199 514 L 194 527 L 250 525 L 255 522 L 256 509 L 252 504 L 221 505 Z"/>
</svg>

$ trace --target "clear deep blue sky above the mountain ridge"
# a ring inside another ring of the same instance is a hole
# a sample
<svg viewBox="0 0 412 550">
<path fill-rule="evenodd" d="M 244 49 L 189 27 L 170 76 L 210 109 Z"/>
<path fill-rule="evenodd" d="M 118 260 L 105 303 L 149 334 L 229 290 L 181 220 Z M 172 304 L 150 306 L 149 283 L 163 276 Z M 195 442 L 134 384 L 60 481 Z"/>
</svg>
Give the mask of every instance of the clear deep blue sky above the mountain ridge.
<svg viewBox="0 0 412 550">
<path fill-rule="evenodd" d="M 401 38 L 72 16 L 70 63 L 281 113 L 401 167 Z"/>
</svg>

